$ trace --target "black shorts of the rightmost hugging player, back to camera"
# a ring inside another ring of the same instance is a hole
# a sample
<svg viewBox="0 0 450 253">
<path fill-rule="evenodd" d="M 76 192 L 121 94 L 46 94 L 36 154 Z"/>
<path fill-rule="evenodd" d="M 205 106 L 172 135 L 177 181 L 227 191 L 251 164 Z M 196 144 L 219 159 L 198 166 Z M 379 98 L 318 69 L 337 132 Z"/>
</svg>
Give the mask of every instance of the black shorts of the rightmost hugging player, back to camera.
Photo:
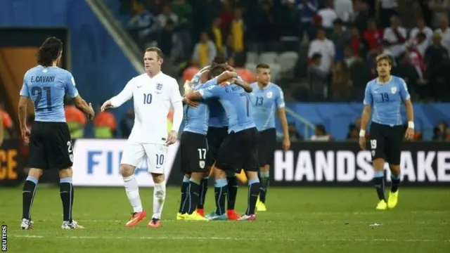
<svg viewBox="0 0 450 253">
<path fill-rule="evenodd" d="M 256 127 L 231 132 L 220 145 L 216 167 L 225 171 L 259 171 L 258 139 Z"/>
</svg>

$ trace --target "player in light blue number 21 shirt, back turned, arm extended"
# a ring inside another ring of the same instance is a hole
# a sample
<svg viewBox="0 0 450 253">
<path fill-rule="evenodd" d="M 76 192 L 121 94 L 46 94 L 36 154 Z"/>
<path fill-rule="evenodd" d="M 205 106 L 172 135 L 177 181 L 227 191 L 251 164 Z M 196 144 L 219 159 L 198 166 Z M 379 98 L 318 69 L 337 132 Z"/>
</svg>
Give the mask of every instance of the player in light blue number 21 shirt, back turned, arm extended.
<svg viewBox="0 0 450 253">
<path fill-rule="evenodd" d="M 61 228 L 84 228 L 72 219 L 74 188 L 72 186 L 73 149 L 70 131 L 65 120 L 64 97 L 68 94 L 75 106 L 94 119 L 94 110 L 79 96 L 75 80 L 67 70 L 58 67 L 63 55 L 63 42 L 55 37 L 47 38 L 37 53 L 37 65 L 25 73 L 20 90 L 18 117 L 20 132 L 30 143 L 27 180 L 23 185 L 23 213 L 20 228 L 30 229 L 31 206 L 37 182 L 46 169 L 58 169 L 60 197 L 63 202 L 63 225 Z M 34 105 L 34 125 L 27 128 L 27 102 Z"/>
</svg>

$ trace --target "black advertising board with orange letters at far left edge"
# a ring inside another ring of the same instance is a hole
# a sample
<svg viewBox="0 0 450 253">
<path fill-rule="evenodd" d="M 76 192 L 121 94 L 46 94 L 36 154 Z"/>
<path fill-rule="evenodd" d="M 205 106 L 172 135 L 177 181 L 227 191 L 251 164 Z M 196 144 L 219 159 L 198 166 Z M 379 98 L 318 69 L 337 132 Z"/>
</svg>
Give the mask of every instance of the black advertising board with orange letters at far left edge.
<svg viewBox="0 0 450 253">
<path fill-rule="evenodd" d="M 18 186 L 23 181 L 23 157 L 17 140 L 5 140 L 0 146 L 0 186 Z"/>
</svg>

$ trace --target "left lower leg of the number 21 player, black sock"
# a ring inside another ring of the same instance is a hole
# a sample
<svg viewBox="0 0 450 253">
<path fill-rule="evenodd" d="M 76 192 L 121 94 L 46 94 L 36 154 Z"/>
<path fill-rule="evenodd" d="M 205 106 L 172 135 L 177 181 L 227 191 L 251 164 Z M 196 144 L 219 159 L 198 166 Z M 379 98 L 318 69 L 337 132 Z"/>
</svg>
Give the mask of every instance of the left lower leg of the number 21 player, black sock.
<svg viewBox="0 0 450 253">
<path fill-rule="evenodd" d="M 33 228 L 33 221 L 31 220 L 31 207 L 33 205 L 34 194 L 36 193 L 37 182 L 42 175 L 42 169 L 31 168 L 28 171 L 28 177 L 23 185 L 23 209 L 22 209 L 22 223 L 20 228 Z"/>
</svg>

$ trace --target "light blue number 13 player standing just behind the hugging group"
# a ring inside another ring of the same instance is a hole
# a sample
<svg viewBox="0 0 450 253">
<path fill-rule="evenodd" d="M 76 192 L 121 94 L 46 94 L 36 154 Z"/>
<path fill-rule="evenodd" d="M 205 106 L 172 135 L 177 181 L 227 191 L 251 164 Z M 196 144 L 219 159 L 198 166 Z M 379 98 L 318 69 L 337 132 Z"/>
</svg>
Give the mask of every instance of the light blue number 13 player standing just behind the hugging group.
<svg viewBox="0 0 450 253">
<path fill-rule="evenodd" d="M 283 91 L 270 82 L 270 67 L 264 63 L 256 67 L 257 82 L 251 84 L 250 99 L 253 105 L 253 120 L 259 131 L 259 178 L 261 189 L 256 207 L 258 212 L 266 211 L 266 195 L 269 188 L 270 165 L 274 162 L 276 148 L 275 111 L 283 128 L 283 150 L 290 148 L 288 120 L 286 119 Z"/>
</svg>

